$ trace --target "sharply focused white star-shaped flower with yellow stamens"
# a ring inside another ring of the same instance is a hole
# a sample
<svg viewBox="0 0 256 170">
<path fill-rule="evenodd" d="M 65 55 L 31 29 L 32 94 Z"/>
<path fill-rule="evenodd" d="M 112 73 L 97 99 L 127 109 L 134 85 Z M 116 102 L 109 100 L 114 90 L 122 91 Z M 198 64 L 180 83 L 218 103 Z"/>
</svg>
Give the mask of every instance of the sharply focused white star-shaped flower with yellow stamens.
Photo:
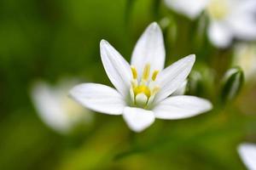
<svg viewBox="0 0 256 170">
<path fill-rule="evenodd" d="M 81 105 L 109 115 L 123 115 L 135 132 L 149 127 L 155 118 L 181 119 L 212 109 L 206 99 L 171 96 L 183 86 L 195 55 L 178 60 L 165 70 L 166 52 L 160 27 L 152 23 L 139 38 L 131 65 L 107 41 L 101 42 L 102 64 L 116 88 L 84 83 L 70 94 Z"/>
</svg>

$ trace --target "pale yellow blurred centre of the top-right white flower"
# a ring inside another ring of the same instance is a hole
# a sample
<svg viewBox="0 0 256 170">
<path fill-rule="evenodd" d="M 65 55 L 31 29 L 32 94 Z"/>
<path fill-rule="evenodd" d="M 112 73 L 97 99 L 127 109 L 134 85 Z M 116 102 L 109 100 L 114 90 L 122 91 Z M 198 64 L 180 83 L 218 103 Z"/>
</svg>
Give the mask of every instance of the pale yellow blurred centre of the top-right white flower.
<svg viewBox="0 0 256 170">
<path fill-rule="evenodd" d="M 222 20 L 229 13 L 229 4 L 225 0 L 212 0 L 207 12 L 214 20 Z"/>
</svg>

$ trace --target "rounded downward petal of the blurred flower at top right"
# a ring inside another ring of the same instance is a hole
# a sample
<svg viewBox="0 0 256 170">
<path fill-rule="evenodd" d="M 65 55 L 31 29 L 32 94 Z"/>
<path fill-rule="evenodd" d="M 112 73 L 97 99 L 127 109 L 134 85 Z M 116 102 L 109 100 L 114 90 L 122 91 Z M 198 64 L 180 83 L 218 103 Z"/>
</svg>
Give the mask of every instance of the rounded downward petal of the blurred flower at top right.
<svg viewBox="0 0 256 170">
<path fill-rule="evenodd" d="M 233 35 L 229 26 L 213 21 L 208 28 L 208 37 L 212 44 L 218 48 L 226 48 L 230 45 Z"/>
</svg>

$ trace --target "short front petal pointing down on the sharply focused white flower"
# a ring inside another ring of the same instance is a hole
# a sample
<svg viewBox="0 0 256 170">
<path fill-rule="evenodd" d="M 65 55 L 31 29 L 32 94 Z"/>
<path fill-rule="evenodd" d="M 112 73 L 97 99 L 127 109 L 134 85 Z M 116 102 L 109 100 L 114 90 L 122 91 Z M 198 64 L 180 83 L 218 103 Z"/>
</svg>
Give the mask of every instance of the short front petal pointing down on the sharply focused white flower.
<svg viewBox="0 0 256 170">
<path fill-rule="evenodd" d="M 139 133 L 154 122 L 153 111 L 147 111 L 136 107 L 125 107 L 124 119 L 131 130 Z"/>
</svg>

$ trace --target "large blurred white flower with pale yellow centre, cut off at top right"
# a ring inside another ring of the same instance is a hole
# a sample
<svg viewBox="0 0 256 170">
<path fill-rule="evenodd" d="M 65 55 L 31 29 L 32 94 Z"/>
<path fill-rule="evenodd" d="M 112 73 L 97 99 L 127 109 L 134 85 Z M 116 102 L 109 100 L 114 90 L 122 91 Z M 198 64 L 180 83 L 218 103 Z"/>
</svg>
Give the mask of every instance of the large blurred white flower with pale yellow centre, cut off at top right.
<svg viewBox="0 0 256 170">
<path fill-rule="evenodd" d="M 234 37 L 249 41 L 256 38 L 255 0 L 179 0 L 178 5 L 177 1 L 166 0 L 166 4 L 192 19 L 205 10 L 210 19 L 208 37 L 219 48 L 228 47 Z"/>
</svg>

